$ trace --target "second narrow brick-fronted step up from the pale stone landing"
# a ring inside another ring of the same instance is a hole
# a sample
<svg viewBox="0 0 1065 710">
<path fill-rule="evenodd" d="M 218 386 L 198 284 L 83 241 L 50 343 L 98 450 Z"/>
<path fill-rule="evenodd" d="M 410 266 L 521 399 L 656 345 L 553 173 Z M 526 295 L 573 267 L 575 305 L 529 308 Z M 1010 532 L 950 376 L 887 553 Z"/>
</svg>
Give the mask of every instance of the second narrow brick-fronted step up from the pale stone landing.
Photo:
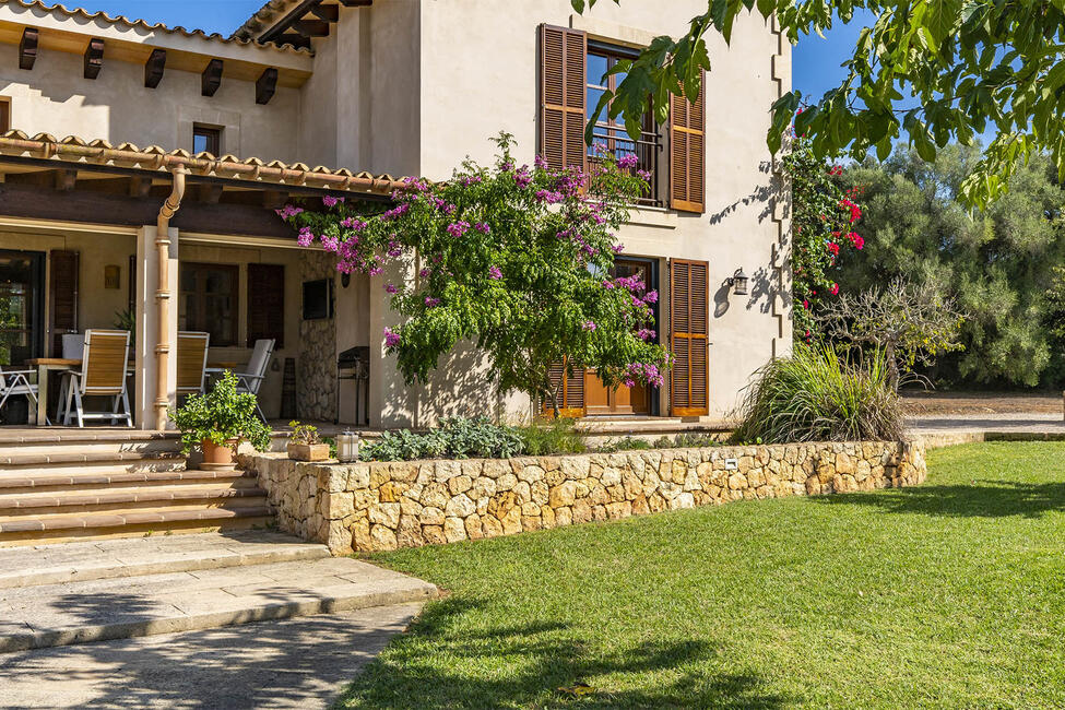
<svg viewBox="0 0 1065 710">
<path fill-rule="evenodd" d="M 240 482 L 240 483 L 237 483 Z M 251 485 L 247 485 L 250 483 Z M 263 498 L 264 490 L 253 478 L 236 478 L 233 482 L 190 483 L 186 485 L 149 486 L 134 488 L 90 488 L 56 490 L 48 494 L 9 494 L 0 489 L 0 523 L 5 519 L 40 516 L 52 512 L 100 512 L 120 508 L 139 508 L 188 505 L 192 502 L 221 502 L 233 499 Z M 249 501 L 260 502 L 260 501 Z"/>
</svg>

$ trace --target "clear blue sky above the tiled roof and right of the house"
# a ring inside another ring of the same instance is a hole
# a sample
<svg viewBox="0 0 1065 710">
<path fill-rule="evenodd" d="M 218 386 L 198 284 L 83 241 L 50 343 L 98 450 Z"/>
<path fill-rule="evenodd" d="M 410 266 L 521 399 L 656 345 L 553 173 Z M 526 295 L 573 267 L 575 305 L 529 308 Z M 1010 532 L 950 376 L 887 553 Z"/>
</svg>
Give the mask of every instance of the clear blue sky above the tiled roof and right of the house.
<svg viewBox="0 0 1065 710">
<path fill-rule="evenodd" d="M 628 0 L 648 2 L 656 0 Z M 168 26 L 182 25 L 205 32 L 228 35 L 244 24 L 264 0 L 67 0 L 67 5 L 80 5 L 90 11 L 103 10 L 116 15 L 163 22 Z M 684 25 L 677 25 L 679 33 Z M 839 83 L 839 66 L 854 47 L 860 27 L 838 26 L 825 39 L 807 37 L 795 48 L 793 84 L 812 99 L 819 98 Z"/>
</svg>

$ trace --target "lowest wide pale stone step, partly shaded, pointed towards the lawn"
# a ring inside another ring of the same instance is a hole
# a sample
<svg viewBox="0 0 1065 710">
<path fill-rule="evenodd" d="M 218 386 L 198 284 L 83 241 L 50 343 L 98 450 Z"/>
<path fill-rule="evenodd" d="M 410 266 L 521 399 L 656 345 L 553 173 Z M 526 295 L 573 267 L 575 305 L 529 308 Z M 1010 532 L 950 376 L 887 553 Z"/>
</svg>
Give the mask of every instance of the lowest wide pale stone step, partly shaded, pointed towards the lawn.
<svg viewBox="0 0 1065 710">
<path fill-rule="evenodd" d="M 232 626 L 437 596 L 428 582 L 351 558 L 0 591 L 0 652 Z"/>
</svg>

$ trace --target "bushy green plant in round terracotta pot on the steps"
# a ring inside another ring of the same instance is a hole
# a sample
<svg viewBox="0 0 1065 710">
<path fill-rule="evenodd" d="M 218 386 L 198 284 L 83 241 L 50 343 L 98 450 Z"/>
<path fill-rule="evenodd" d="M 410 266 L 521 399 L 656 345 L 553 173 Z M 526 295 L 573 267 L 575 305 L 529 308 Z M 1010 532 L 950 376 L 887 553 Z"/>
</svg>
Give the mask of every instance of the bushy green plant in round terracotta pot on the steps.
<svg viewBox="0 0 1065 710">
<path fill-rule="evenodd" d="M 233 470 L 233 454 L 241 440 L 257 451 L 270 448 L 270 428 L 256 414 L 256 395 L 237 393 L 237 378 L 226 371 L 206 394 L 190 394 L 185 404 L 169 410 L 181 430 L 181 451 L 203 451 L 203 468 Z"/>
</svg>

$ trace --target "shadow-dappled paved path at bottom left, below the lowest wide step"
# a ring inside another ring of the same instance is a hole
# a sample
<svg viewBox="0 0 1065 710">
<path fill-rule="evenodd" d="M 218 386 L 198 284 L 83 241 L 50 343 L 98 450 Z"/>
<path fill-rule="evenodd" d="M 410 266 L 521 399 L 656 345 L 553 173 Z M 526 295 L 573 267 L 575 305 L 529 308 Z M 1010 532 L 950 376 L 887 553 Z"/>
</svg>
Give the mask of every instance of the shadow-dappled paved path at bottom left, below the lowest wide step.
<svg viewBox="0 0 1065 710">
<path fill-rule="evenodd" d="M 323 708 L 419 604 L 0 655 L 0 708 Z"/>
</svg>

